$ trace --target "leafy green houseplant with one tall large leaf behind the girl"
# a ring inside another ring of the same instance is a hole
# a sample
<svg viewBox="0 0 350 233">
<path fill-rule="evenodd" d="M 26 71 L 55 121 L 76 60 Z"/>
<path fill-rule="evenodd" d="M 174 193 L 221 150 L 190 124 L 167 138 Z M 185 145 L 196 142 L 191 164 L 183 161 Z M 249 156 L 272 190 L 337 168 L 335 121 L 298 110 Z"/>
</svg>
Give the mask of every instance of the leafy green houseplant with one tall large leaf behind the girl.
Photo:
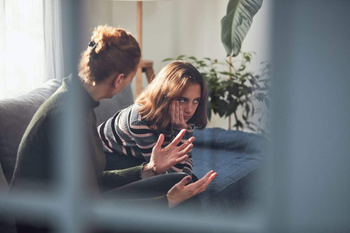
<svg viewBox="0 0 350 233">
<path fill-rule="evenodd" d="M 262 0 L 230 0 L 226 15 L 221 20 L 221 40 L 226 50 L 228 60 L 225 62 L 205 57 L 197 59 L 194 56 L 181 55 L 176 59 L 186 60 L 193 64 L 206 79 L 209 87 L 208 118 L 211 119 L 211 110 L 220 117 L 235 117 L 233 128 L 236 130 L 250 129 L 254 132 L 267 134 L 268 123 L 262 125 L 263 117 L 268 116 L 269 75 L 270 64 L 262 62 L 259 73 L 247 71 L 247 64 L 254 52 L 240 52 L 241 44 L 253 21 L 253 16 L 262 5 Z M 242 55 L 239 65 L 233 65 L 232 57 Z M 219 66 L 229 67 L 229 72 L 219 71 Z M 233 70 L 233 71 L 232 71 Z M 255 109 L 258 102 L 265 104 L 265 109 Z M 241 115 L 238 116 L 238 110 Z M 258 122 L 251 119 L 254 114 L 260 113 Z M 229 125 L 229 129 L 231 125 Z"/>
</svg>

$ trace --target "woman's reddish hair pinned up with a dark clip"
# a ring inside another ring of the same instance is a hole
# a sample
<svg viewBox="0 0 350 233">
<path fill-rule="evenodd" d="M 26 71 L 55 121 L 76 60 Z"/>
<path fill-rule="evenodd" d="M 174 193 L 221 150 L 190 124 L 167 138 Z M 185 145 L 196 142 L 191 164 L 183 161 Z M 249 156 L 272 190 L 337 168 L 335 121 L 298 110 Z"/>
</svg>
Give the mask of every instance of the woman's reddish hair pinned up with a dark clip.
<svg viewBox="0 0 350 233">
<path fill-rule="evenodd" d="M 89 47 L 81 54 L 79 76 L 86 83 L 99 82 L 113 72 L 125 77 L 137 68 L 141 50 L 136 39 L 123 28 L 94 28 Z"/>
</svg>

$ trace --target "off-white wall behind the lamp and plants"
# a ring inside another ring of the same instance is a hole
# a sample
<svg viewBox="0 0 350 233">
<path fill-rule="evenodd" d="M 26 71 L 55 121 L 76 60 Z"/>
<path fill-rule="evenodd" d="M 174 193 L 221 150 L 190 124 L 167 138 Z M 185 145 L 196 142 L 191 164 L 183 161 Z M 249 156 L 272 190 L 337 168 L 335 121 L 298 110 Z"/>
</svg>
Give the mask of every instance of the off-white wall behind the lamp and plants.
<svg viewBox="0 0 350 233">
<path fill-rule="evenodd" d="M 143 58 L 154 62 L 159 72 L 167 57 L 180 54 L 224 59 L 226 52 L 221 43 L 221 19 L 226 14 L 228 0 L 169 0 L 143 2 Z M 243 42 L 243 51 L 255 51 L 253 70 L 264 60 L 271 60 L 271 0 L 264 0 L 255 15 L 252 26 Z M 137 3 L 135 1 L 86 0 L 81 51 L 91 37 L 91 29 L 98 24 L 123 27 L 137 38 Z M 136 85 L 133 81 L 132 90 Z M 147 85 L 144 77 L 144 86 Z M 233 122 L 233 121 L 232 121 Z M 228 119 L 213 115 L 209 127 L 228 128 Z"/>
</svg>

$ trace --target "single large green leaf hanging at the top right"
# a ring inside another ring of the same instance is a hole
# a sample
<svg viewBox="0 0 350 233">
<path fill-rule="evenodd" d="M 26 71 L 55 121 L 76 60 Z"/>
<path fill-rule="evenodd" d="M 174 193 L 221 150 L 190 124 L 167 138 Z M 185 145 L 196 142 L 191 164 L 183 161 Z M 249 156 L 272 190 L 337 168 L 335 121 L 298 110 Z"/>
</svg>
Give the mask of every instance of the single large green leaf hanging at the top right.
<svg viewBox="0 0 350 233">
<path fill-rule="evenodd" d="M 221 41 L 227 56 L 236 57 L 243 39 L 252 24 L 253 16 L 262 5 L 262 0 L 230 0 L 227 13 L 221 20 Z"/>
</svg>

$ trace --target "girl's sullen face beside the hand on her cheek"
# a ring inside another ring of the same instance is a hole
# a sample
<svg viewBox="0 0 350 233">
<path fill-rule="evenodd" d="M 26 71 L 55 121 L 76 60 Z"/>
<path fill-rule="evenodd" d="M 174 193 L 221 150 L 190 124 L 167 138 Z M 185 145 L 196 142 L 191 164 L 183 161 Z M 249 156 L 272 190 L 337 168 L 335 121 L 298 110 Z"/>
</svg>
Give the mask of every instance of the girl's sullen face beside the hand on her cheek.
<svg viewBox="0 0 350 233">
<path fill-rule="evenodd" d="M 194 114 L 201 100 L 201 85 L 193 84 L 177 99 L 183 110 L 183 119 L 187 122 Z"/>
</svg>

